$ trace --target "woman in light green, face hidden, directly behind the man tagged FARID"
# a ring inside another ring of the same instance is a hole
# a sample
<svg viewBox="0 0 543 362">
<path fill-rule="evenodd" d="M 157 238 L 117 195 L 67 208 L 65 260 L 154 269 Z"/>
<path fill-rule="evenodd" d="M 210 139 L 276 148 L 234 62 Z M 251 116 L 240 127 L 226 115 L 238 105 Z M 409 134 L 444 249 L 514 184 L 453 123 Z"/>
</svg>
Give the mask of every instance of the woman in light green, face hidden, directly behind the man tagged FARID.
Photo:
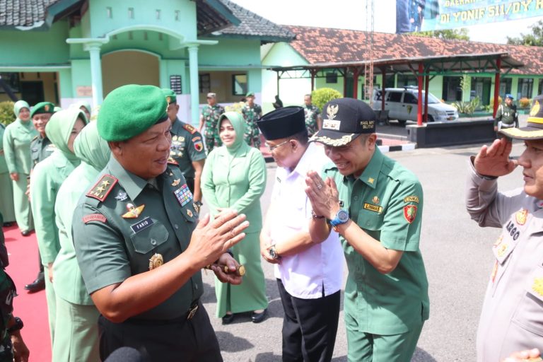
<svg viewBox="0 0 543 362">
<path fill-rule="evenodd" d="M 57 320 L 52 361 L 100 361 L 98 316 L 77 264 L 71 221 L 77 202 L 110 160 L 110 148 L 98 135 L 96 122 L 86 126 L 74 141 L 81 164 L 64 180 L 54 204 L 60 250 L 53 264 Z"/>
</svg>

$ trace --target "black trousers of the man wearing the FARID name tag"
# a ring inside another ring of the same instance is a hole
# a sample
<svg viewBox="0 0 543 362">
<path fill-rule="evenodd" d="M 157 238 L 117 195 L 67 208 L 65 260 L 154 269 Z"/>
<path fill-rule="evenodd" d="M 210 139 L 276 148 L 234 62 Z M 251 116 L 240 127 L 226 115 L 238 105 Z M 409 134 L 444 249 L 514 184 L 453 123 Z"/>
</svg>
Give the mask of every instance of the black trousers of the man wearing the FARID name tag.
<svg viewBox="0 0 543 362">
<path fill-rule="evenodd" d="M 217 337 L 204 306 L 192 318 L 165 322 L 127 320 L 113 323 L 98 318 L 100 359 L 121 347 L 131 347 L 146 362 L 222 362 Z"/>
</svg>

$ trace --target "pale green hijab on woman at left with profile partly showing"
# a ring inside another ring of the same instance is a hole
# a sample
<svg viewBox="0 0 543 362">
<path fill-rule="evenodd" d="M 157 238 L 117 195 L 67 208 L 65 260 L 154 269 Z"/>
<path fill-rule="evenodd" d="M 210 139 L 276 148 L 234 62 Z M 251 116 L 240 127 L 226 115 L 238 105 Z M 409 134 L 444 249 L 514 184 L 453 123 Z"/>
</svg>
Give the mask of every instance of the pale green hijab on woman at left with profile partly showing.
<svg viewBox="0 0 543 362">
<path fill-rule="evenodd" d="M 47 134 L 49 141 L 71 162 L 79 160 L 68 148 L 71 130 L 74 128 L 74 124 L 76 124 L 78 118 L 81 118 L 83 123 L 87 124 L 87 117 L 85 117 L 82 110 L 75 108 L 60 110 L 51 116 L 51 119 L 49 119 L 49 122 L 45 126 L 45 134 Z"/>
</svg>

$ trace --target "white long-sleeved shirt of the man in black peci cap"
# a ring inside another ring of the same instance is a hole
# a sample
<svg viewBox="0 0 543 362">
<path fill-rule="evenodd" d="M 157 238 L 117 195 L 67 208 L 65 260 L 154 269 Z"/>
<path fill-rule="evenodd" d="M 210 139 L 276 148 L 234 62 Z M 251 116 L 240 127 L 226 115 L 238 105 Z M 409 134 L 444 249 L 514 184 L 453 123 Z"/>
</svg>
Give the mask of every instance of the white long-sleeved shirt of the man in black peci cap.
<svg viewBox="0 0 543 362">
<path fill-rule="evenodd" d="M 311 203 L 305 194 L 305 177 L 310 170 L 321 172 L 330 160 L 322 147 L 309 144 L 294 170 L 277 168 L 272 202 L 274 215 L 271 221 L 271 240 L 281 240 L 303 231 L 308 232 L 311 219 Z M 315 244 L 296 255 L 281 257 L 275 264 L 275 276 L 281 279 L 286 291 L 303 299 L 329 296 L 341 288 L 344 255 L 339 235 L 332 230 L 327 240 Z"/>
</svg>

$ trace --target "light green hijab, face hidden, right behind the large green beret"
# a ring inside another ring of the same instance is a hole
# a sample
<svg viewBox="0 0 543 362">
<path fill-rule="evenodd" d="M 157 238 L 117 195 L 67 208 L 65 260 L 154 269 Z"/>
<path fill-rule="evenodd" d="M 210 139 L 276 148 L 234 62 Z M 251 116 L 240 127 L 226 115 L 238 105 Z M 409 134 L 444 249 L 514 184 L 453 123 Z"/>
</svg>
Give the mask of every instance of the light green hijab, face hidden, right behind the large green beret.
<svg viewBox="0 0 543 362">
<path fill-rule="evenodd" d="M 84 163 L 98 171 L 103 170 L 110 160 L 110 146 L 98 134 L 96 122 L 91 122 L 81 130 L 74 141 L 74 152 Z"/>
</svg>

